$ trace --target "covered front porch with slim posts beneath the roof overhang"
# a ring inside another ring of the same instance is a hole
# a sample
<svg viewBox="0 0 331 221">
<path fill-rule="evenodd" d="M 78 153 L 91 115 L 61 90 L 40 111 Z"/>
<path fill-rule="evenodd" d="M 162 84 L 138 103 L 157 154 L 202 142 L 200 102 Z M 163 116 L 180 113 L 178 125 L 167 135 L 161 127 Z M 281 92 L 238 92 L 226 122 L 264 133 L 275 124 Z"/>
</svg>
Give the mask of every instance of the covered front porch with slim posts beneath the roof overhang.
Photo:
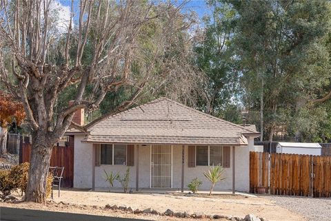
<svg viewBox="0 0 331 221">
<path fill-rule="evenodd" d="M 105 180 L 105 171 L 119 173 L 123 176 L 127 167 L 130 167 L 129 190 L 132 191 L 188 191 L 187 185 L 194 178 L 203 182 L 202 191 L 210 189 L 210 182 L 205 179 L 203 172 L 208 170 L 208 166 L 213 165 L 211 155 L 213 149 L 219 149 L 220 162 L 224 167 L 225 180 L 217 183 L 215 191 L 235 193 L 236 190 L 248 191 L 248 147 L 247 146 L 227 146 L 227 145 L 126 145 L 126 161 L 123 165 L 118 165 L 116 160 L 118 147 L 108 144 L 107 148 L 112 147 L 112 153 L 108 158 L 112 162 L 105 164 L 103 155 L 106 146 L 102 144 L 92 145 L 92 189 L 95 191 L 108 189 L 109 184 Z M 197 147 L 199 147 L 197 152 Z M 203 155 L 203 148 L 207 153 L 207 158 Z M 103 150 L 102 150 L 103 149 Z M 124 152 L 124 151 L 123 151 Z M 199 155 L 199 153 L 202 153 Z M 215 152 L 216 153 L 216 152 Z M 217 154 L 216 153 L 216 154 Z M 123 158 L 123 156 L 119 157 Z M 238 158 L 238 159 L 237 159 Z M 198 160 L 198 162 L 197 162 Z M 205 162 L 207 160 L 207 162 Z M 236 163 L 237 162 L 237 163 Z M 207 163 L 207 164 L 205 164 Z M 238 167 L 236 167 L 238 164 Z M 246 165 L 247 164 L 247 165 Z M 114 188 L 119 189 L 119 182 L 115 183 Z"/>
</svg>

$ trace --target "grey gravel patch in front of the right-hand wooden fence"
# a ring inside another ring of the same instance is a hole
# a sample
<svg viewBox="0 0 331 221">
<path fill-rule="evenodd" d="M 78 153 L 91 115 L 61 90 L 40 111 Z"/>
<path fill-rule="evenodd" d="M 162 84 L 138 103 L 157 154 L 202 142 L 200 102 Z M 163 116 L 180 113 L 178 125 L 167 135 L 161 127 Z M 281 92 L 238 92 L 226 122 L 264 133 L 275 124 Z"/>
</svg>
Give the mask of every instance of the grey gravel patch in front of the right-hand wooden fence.
<svg viewBox="0 0 331 221">
<path fill-rule="evenodd" d="M 303 198 L 290 196 L 263 196 L 275 204 L 299 213 L 310 221 L 331 220 L 331 198 Z"/>
</svg>

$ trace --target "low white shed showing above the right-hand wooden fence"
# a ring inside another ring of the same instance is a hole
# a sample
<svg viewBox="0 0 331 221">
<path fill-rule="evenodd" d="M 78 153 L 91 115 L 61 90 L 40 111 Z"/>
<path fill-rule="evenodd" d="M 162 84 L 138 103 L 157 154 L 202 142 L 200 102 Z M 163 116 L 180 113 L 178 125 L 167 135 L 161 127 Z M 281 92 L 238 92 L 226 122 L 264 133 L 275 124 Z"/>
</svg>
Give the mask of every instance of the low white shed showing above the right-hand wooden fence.
<svg viewBox="0 0 331 221">
<path fill-rule="evenodd" d="M 287 143 L 279 142 L 276 147 L 279 154 L 308 154 L 321 156 L 322 147 L 319 143 Z"/>
</svg>

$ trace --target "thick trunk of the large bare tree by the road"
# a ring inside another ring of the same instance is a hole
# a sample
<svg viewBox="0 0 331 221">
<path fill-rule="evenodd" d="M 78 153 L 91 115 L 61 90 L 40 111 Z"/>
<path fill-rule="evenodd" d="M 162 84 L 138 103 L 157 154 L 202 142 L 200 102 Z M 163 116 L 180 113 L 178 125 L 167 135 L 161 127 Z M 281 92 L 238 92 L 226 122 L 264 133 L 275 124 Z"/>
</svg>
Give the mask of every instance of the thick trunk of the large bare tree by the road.
<svg viewBox="0 0 331 221">
<path fill-rule="evenodd" d="M 47 139 L 46 132 L 32 134 L 30 173 L 26 189 L 26 201 L 46 202 L 46 178 L 50 165 L 53 144 Z"/>
</svg>

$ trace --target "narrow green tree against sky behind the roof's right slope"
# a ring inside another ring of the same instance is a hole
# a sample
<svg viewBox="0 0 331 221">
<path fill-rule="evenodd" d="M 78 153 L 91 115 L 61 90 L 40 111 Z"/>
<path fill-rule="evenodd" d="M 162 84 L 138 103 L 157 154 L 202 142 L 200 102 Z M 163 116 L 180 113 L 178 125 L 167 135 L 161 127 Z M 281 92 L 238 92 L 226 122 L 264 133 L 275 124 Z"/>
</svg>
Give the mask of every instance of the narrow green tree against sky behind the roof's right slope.
<svg viewBox="0 0 331 221">
<path fill-rule="evenodd" d="M 232 47 L 236 12 L 227 3 L 207 3 L 210 15 L 203 18 L 204 25 L 194 45 L 196 65 L 205 74 L 198 105 L 204 112 L 224 118 L 225 109 L 237 98 L 239 83 Z"/>
</svg>

